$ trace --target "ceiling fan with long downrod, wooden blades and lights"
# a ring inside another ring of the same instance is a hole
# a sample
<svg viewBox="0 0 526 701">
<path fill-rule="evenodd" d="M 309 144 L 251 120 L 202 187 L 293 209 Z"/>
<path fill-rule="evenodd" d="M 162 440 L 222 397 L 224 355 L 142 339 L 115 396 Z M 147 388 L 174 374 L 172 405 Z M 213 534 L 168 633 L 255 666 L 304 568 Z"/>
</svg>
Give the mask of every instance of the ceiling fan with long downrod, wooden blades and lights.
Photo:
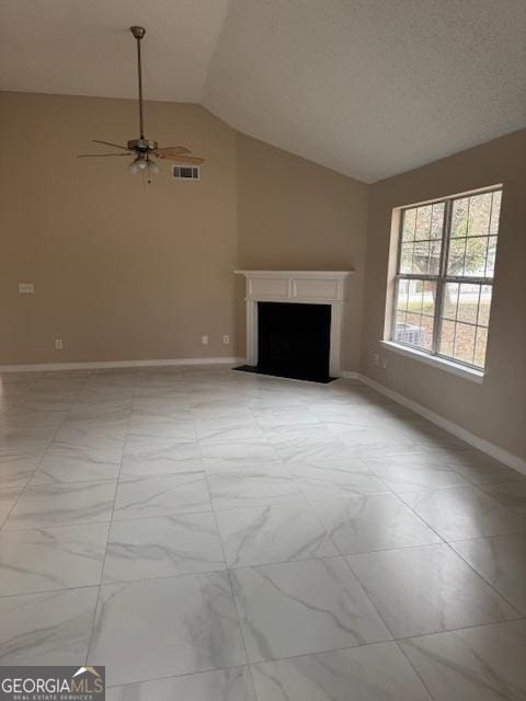
<svg viewBox="0 0 526 701">
<path fill-rule="evenodd" d="M 82 153 L 78 158 L 106 158 L 112 156 L 134 156 L 134 160 L 128 165 L 128 171 L 134 175 L 136 173 L 146 173 L 148 182 L 150 182 L 151 175 L 156 175 L 159 172 L 159 166 L 155 159 L 168 159 L 178 163 L 188 163 L 192 165 L 198 165 L 204 163 L 204 159 L 192 156 L 190 149 L 184 146 L 167 146 L 160 148 L 157 141 L 147 139 L 145 137 L 145 124 L 142 114 L 142 65 L 140 56 L 140 42 L 146 34 L 146 30 L 142 26 L 130 26 L 129 31 L 137 41 L 137 72 L 139 84 L 139 138 L 132 139 L 127 142 L 127 146 L 121 146 L 119 143 L 111 143 L 110 141 L 101 141 L 100 139 L 93 139 L 94 143 L 103 143 L 104 146 L 112 146 L 116 149 L 121 149 L 121 153 Z"/>
</svg>

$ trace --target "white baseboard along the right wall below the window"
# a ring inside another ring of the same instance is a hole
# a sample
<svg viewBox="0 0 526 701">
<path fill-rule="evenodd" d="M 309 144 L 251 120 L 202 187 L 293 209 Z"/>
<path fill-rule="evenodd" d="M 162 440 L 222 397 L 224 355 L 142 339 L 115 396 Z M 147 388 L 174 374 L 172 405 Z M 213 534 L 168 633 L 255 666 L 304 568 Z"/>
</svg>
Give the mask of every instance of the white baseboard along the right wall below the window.
<svg viewBox="0 0 526 701">
<path fill-rule="evenodd" d="M 422 406 L 422 404 L 419 404 L 418 402 L 413 402 L 413 400 L 408 399 L 403 394 L 399 394 L 398 392 L 395 392 L 395 390 L 390 390 L 388 387 L 385 387 L 379 382 L 375 382 L 375 380 L 371 380 L 365 375 L 361 375 L 359 372 L 350 374 L 350 375 L 357 375 L 358 380 L 361 380 L 364 384 L 367 384 L 368 387 L 373 388 L 377 392 L 380 392 L 380 394 L 385 394 L 386 397 L 388 397 L 389 399 L 392 399 L 392 401 L 397 402 L 398 404 L 402 404 L 402 406 L 407 406 L 408 409 L 412 410 L 416 414 L 424 416 L 424 418 L 427 418 L 427 421 L 431 421 L 433 424 L 436 424 L 441 428 L 444 428 L 444 430 L 447 430 L 448 433 L 453 434 L 457 438 L 465 440 L 470 446 L 473 446 L 473 448 L 478 448 L 482 452 L 485 452 L 492 458 L 495 458 L 495 460 L 499 460 L 500 462 L 503 462 L 504 464 L 507 464 L 511 468 L 514 468 L 518 472 L 526 474 L 526 461 L 519 458 L 518 456 L 515 456 L 512 452 L 504 450 L 504 448 L 500 448 L 499 446 L 495 446 L 494 444 L 490 443 L 489 440 L 485 440 L 484 438 L 481 438 L 480 436 L 476 436 L 474 434 L 467 430 L 466 428 L 458 426 L 458 424 L 454 424 L 453 421 L 449 421 L 448 418 L 444 418 L 444 416 L 436 414 L 431 409 L 427 409 L 426 406 Z M 344 372 L 343 377 L 347 377 L 347 374 Z"/>
</svg>

